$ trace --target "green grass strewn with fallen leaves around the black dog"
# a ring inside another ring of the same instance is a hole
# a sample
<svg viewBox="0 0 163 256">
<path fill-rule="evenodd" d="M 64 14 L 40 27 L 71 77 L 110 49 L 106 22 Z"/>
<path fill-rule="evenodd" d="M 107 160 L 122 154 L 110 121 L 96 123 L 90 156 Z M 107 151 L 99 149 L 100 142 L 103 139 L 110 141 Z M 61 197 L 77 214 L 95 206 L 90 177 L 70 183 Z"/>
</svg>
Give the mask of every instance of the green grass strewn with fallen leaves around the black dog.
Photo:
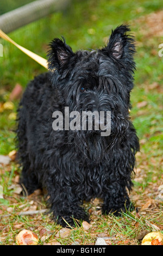
<svg viewBox="0 0 163 256">
<path fill-rule="evenodd" d="M 3 11 L 7 10 L 5 7 L 12 6 L 11 3 L 7 5 L 8 1 L 5 2 Z M 109 245 L 139 245 L 142 234 L 163 228 L 162 201 L 158 200 L 163 178 L 163 58 L 158 56 L 158 45 L 163 38 L 154 32 L 152 35 L 148 33 L 151 29 L 147 26 L 148 21 L 141 21 L 141 17 L 149 16 L 153 11 L 159 15 L 162 8 L 163 2 L 159 0 L 85 0 L 82 3 L 76 0 L 64 14 L 50 15 L 10 33 L 18 44 L 46 58 L 47 44 L 54 37 L 64 35 L 73 51 L 78 48 L 98 48 L 106 43 L 112 28 L 121 23 L 131 25 L 137 41 L 136 85 L 131 93 L 131 119 L 141 144 L 131 200 L 139 208 L 139 214 L 127 212 L 122 217 L 103 216 L 99 211 L 98 200 L 85 203 L 91 215 L 91 228 L 84 230 L 77 225 L 67 237 L 56 237 L 61 227 L 51 220 L 50 215 L 19 215 L 28 210 L 45 209 L 46 198 L 37 194 L 26 198 L 15 193 L 20 170 L 13 161 L 8 166 L 0 166 L 0 186 L 4 197 L 0 198 L 0 244 L 15 244 L 16 234 L 25 228 L 39 235 L 41 245 L 54 241 L 61 245 L 94 245 L 98 236 L 109 237 L 106 239 Z M 146 26 L 149 28 L 146 29 Z M 10 101 L 9 96 L 16 83 L 25 89 L 28 81 L 45 69 L 15 46 L 4 40 L 0 40 L 0 43 L 3 44 L 4 56 L 0 57 L 0 155 L 8 155 L 15 148 L 13 113 L 16 113 L 18 100 L 14 100 L 10 108 L 3 108 L 4 103 Z M 42 229 L 46 230 L 43 235 Z"/>
</svg>

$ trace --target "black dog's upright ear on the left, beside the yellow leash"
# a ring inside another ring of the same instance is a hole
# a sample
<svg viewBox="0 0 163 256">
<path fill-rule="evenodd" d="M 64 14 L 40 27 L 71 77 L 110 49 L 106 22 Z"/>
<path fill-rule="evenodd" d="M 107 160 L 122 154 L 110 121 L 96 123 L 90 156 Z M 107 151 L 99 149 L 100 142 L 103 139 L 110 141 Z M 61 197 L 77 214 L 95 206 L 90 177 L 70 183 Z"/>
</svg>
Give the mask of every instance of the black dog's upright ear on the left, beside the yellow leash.
<svg viewBox="0 0 163 256">
<path fill-rule="evenodd" d="M 48 69 L 64 69 L 68 67 L 70 59 L 75 55 L 70 46 L 66 45 L 65 39 L 56 38 L 49 44 L 50 50 L 48 51 Z"/>
</svg>

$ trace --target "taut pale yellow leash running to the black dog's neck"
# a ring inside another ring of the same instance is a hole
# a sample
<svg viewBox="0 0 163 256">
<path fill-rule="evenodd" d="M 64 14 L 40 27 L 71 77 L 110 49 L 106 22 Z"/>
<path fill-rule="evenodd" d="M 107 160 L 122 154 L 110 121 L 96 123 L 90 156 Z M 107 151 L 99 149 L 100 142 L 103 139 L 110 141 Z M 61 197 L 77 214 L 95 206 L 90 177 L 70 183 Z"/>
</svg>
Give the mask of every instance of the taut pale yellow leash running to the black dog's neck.
<svg viewBox="0 0 163 256">
<path fill-rule="evenodd" d="M 16 44 L 11 38 L 9 38 L 8 35 L 6 35 L 1 29 L 0 29 L 0 36 L 4 40 L 7 40 L 8 42 L 11 42 L 11 44 L 15 45 L 18 49 L 20 49 L 22 52 L 26 53 L 30 58 L 34 59 L 35 62 L 39 63 L 40 65 L 44 66 L 44 68 L 48 69 L 47 60 L 40 57 L 39 55 L 27 50 L 26 48 L 22 47 L 21 45 Z"/>
</svg>

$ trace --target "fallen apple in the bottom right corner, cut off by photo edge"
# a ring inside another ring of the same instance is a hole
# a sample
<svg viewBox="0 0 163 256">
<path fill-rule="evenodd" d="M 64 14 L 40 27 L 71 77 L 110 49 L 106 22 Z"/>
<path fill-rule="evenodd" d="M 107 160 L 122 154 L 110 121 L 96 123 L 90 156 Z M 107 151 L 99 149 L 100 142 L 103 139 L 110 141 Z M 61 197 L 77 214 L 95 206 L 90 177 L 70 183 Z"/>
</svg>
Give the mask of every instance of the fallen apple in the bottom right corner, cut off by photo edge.
<svg viewBox="0 0 163 256">
<path fill-rule="evenodd" d="M 141 245 L 163 245 L 163 234 L 160 231 L 148 233 L 143 237 Z"/>
</svg>

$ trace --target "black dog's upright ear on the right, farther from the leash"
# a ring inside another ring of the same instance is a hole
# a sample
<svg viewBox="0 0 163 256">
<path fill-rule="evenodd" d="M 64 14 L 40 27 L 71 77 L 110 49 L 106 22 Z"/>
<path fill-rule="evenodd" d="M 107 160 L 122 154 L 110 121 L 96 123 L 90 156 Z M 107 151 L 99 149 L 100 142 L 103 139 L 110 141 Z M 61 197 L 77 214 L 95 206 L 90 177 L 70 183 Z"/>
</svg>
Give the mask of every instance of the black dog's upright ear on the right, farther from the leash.
<svg viewBox="0 0 163 256">
<path fill-rule="evenodd" d="M 135 39 L 134 36 L 127 34 L 129 31 L 129 26 L 117 27 L 112 31 L 108 45 L 101 51 L 109 57 L 122 60 L 124 64 L 129 62 L 134 65 Z"/>
</svg>

